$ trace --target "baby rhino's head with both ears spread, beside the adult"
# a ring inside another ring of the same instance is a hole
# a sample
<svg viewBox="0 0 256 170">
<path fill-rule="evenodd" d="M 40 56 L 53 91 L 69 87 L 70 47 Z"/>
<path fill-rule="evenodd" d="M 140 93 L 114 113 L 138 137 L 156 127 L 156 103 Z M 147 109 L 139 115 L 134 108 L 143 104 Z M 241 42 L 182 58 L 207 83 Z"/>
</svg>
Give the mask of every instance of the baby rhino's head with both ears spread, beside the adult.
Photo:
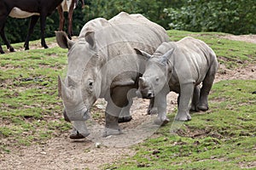
<svg viewBox="0 0 256 170">
<path fill-rule="evenodd" d="M 135 50 L 138 55 L 148 59 L 143 77 L 139 77 L 137 95 L 146 99 L 152 99 L 163 88 L 166 88 L 168 84 L 168 73 L 171 71 L 168 59 L 172 55 L 173 48 L 161 56 L 150 55 L 137 48 Z"/>
</svg>

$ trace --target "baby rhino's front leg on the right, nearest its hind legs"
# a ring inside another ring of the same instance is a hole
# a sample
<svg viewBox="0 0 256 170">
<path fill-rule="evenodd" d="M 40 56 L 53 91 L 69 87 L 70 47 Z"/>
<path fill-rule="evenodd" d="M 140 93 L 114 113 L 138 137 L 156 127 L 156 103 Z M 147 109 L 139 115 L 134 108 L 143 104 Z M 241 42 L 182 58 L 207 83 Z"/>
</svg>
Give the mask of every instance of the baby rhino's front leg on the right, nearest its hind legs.
<svg viewBox="0 0 256 170">
<path fill-rule="evenodd" d="M 179 105 L 177 108 L 177 116 L 175 119 L 177 121 L 190 121 L 191 116 L 189 115 L 189 101 L 192 98 L 194 91 L 194 84 L 187 83 L 181 84 L 181 92 L 179 95 Z"/>
</svg>

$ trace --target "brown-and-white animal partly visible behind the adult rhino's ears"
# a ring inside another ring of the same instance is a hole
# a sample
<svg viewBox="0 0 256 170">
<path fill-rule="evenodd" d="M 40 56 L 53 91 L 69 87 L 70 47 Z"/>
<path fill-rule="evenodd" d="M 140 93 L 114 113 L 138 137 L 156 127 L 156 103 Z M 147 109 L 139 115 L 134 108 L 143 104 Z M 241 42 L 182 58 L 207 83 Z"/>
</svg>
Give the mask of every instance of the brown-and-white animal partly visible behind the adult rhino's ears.
<svg viewBox="0 0 256 170">
<path fill-rule="evenodd" d="M 60 15 L 59 31 L 64 31 L 65 17 L 64 12 L 67 12 L 67 36 L 71 39 L 73 36 L 72 21 L 73 21 L 73 10 L 77 7 L 79 1 L 82 3 L 84 8 L 84 0 L 64 0 L 58 6 L 58 13 Z"/>
</svg>

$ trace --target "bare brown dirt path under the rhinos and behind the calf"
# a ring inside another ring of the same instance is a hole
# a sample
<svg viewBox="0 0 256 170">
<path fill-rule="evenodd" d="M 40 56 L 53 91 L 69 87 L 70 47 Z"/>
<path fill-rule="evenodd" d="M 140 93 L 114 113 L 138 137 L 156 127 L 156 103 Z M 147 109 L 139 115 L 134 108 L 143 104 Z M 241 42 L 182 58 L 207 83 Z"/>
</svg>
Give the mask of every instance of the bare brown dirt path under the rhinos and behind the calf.
<svg viewBox="0 0 256 170">
<path fill-rule="evenodd" d="M 256 43 L 256 35 L 230 35 L 225 36 L 225 38 Z M 52 44 L 51 46 L 55 45 Z M 224 79 L 256 79 L 256 65 L 247 65 L 245 68 L 236 70 L 228 70 L 224 65 L 220 65 L 215 82 Z M 173 111 L 177 105 L 176 100 L 177 94 L 168 94 L 167 110 L 169 113 L 174 114 Z M 103 111 L 104 106 L 103 100 L 96 102 L 96 107 L 99 110 Z M 153 131 L 146 133 L 146 136 L 139 138 L 142 133 L 137 133 L 137 126 L 145 122 L 143 125 L 147 127 L 147 123 L 152 120 L 152 117 L 146 115 L 147 107 L 148 100 L 135 99 L 131 108 L 133 120 L 121 125 L 125 134 L 117 137 L 118 139 L 113 136 L 107 139 L 99 138 L 98 133 L 101 132 L 96 132 L 93 126 L 90 129 L 93 134 L 86 139 L 72 140 L 68 138 L 68 133 L 63 133 L 44 144 L 29 147 L 17 146 L 12 149 L 11 153 L 1 154 L 0 169 L 101 169 L 103 164 L 113 163 L 126 156 L 133 156 L 136 151 L 131 150 L 128 146 L 149 137 L 158 128 L 155 127 Z M 97 126 L 102 128 L 102 125 Z M 139 130 L 143 128 L 140 127 Z M 97 144 L 100 146 L 96 147 Z"/>
</svg>

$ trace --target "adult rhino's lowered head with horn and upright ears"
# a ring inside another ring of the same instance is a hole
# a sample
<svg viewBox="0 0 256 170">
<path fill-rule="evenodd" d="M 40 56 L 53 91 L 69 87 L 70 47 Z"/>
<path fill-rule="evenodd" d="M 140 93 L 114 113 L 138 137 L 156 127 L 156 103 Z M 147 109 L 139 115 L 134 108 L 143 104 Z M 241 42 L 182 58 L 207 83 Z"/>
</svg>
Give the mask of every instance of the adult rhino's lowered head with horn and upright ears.
<svg viewBox="0 0 256 170">
<path fill-rule="evenodd" d="M 65 120 L 72 122 L 78 133 L 89 135 L 85 121 L 90 118 L 90 108 L 101 93 L 102 59 L 97 56 L 94 32 L 79 37 L 77 42 L 67 38 L 63 31 L 56 31 L 56 40 L 61 48 L 68 48 L 67 77 L 59 77 L 59 95 L 64 104 Z"/>
</svg>

